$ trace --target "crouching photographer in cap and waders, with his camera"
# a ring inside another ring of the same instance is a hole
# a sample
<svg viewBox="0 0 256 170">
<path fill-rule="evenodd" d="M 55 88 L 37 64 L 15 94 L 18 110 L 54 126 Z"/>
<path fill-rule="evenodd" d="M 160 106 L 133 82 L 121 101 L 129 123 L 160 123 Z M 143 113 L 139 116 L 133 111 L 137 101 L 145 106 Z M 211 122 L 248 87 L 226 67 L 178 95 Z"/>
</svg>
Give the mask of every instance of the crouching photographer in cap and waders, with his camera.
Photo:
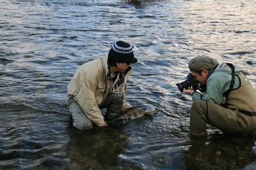
<svg viewBox="0 0 256 170">
<path fill-rule="evenodd" d="M 176 85 L 181 92 L 192 95 L 192 135 L 206 135 L 207 123 L 234 135 L 256 129 L 255 91 L 239 66 L 198 56 L 189 61 L 188 68 L 191 73 L 187 80 Z"/>
</svg>

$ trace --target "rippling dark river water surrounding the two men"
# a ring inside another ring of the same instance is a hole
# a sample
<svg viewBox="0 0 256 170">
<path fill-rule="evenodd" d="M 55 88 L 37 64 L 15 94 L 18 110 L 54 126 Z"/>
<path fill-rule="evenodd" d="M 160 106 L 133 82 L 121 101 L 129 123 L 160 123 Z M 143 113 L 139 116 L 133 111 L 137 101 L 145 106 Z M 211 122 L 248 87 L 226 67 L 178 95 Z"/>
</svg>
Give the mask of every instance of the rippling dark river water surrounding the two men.
<svg viewBox="0 0 256 170">
<path fill-rule="evenodd" d="M 255 169 L 256 136 L 189 136 L 191 58 L 242 66 L 256 89 L 254 0 L 0 0 L 0 169 Z M 79 131 L 65 107 L 76 68 L 117 40 L 138 63 L 127 101 L 151 117 Z"/>
</svg>

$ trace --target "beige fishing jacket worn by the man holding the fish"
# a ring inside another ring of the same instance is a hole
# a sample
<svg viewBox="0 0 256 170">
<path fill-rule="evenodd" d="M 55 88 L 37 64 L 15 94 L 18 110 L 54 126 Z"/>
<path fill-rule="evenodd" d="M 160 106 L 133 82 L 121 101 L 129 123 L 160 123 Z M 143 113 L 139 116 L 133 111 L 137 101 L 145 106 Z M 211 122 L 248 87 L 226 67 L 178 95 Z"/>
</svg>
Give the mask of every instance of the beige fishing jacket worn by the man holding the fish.
<svg viewBox="0 0 256 170">
<path fill-rule="evenodd" d="M 81 106 L 88 118 L 95 125 L 102 127 L 105 125 L 104 117 L 99 107 L 102 105 L 109 93 L 113 93 L 113 88 L 118 79 L 108 80 L 108 54 L 103 58 L 95 59 L 84 63 L 77 68 L 71 81 L 68 83 L 67 92 Z M 129 70 L 125 75 L 125 81 L 118 86 L 115 91 L 122 91 L 124 96 L 127 91 L 127 78 L 131 74 Z M 119 77 L 119 73 L 117 75 Z M 131 107 L 124 99 L 123 109 Z"/>
</svg>

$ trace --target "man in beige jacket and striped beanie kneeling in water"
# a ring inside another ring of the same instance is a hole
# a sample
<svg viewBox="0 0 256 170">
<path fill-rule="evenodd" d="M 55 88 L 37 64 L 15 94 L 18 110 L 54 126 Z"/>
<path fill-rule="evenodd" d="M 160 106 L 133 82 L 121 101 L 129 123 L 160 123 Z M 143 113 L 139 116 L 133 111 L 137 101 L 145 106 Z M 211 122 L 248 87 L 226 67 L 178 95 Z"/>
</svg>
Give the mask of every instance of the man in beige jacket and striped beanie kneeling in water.
<svg viewBox="0 0 256 170">
<path fill-rule="evenodd" d="M 134 58 L 132 46 L 118 41 L 103 58 L 84 63 L 68 83 L 66 102 L 72 114 L 74 127 L 80 130 L 107 127 L 122 109 L 131 105 L 125 100 L 127 78 L 132 72 Z M 100 109 L 107 108 L 106 116 Z"/>
</svg>

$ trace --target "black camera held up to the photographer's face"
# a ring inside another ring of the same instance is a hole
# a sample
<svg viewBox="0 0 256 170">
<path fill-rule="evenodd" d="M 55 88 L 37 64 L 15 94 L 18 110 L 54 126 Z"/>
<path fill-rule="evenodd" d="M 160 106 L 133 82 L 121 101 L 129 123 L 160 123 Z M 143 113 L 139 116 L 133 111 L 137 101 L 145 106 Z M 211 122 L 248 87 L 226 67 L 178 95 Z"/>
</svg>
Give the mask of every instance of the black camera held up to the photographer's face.
<svg viewBox="0 0 256 170">
<path fill-rule="evenodd" d="M 196 81 L 195 77 L 191 73 L 187 75 L 186 81 L 177 83 L 175 85 L 178 86 L 180 92 L 183 92 L 184 88 L 188 89 L 191 86 L 194 90 L 199 89 L 200 87 L 200 83 Z"/>
</svg>

